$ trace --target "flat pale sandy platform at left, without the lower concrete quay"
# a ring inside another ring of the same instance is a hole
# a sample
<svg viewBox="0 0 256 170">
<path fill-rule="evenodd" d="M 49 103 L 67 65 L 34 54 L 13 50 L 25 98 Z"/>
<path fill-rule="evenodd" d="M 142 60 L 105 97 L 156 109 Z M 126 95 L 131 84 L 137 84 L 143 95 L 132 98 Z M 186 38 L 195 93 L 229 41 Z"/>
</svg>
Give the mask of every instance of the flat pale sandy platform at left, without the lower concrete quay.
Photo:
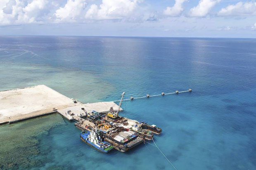
<svg viewBox="0 0 256 170">
<path fill-rule="evenodd" d="M 79 104 L 45 85 L 0 91 L 0 122 L 51 112 L 53 107 L 76 105 Z"/>
</svg>

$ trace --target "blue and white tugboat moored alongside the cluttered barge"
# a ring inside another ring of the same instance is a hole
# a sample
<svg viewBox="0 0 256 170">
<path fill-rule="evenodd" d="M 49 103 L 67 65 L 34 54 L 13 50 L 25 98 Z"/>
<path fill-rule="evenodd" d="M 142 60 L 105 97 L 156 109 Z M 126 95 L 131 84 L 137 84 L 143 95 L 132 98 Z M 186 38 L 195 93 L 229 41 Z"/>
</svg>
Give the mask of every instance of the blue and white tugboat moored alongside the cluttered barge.
<svg viewBox="0 0 256 170">
<path fill-rule="evenodd" d="M 80 133 L 80 138 L 83 142 L 89 144 L 91 147 L 94 147 L 98 151 L 101 151 L 103 153 L 108 153 L 114 147 L 109 144 L 108 142 L 102 140 L 102 136 L 100 133 L 100 130 L 97 128 L 94 128 L 90 131 L 84 130 Z"/>
</svg>

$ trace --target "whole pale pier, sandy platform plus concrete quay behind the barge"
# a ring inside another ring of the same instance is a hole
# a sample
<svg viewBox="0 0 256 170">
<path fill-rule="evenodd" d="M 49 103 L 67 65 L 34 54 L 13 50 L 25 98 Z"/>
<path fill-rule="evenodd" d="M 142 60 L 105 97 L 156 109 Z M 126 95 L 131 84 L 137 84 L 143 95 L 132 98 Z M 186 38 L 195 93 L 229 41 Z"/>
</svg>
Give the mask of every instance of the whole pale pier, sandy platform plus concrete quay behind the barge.
<svg viewBox="0 0 256 170">
<path fill-rule="evenodd" d="M 80 116 L 85 113 L 81 108 L 86 112 L 95 110 L 100 113 L 109 112 L 110 107 L 114 110 L 118 109 L 118 105 L 114 102 L 83 104 L 73 101 L 45 85 L 0 91 L 0 125 L 57 112 L 66 119 L 73 120 L 73 117 L 66 112 L 71 110 L 76 116 Z"/>
</svg>

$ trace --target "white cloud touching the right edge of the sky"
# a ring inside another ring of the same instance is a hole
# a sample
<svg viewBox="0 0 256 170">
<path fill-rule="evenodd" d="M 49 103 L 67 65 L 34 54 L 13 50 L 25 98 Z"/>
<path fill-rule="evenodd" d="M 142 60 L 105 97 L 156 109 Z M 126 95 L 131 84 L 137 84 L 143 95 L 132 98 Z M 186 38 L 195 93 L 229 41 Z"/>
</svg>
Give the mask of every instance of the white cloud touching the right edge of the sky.
<svg viewBox="0 0 256 170">
<path fill-rule="evenodd" d="M 246 16 L 256 14 L 256 2 L 238 2 L 235 5 L 228 5 L 222 8 L 219 16 Z"/>
</svg>

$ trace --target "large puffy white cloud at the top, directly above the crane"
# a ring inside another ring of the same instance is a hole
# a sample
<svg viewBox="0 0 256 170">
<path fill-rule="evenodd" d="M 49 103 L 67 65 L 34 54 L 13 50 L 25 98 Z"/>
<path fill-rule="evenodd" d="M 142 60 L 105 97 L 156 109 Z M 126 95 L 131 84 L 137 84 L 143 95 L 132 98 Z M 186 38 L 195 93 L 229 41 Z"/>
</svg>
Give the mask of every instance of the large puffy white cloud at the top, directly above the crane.
<svg viewBox="0 0 256 170">
<path fill-rule="evenodd" d="M 85 14 L 86 19 L 123 19 L 132 14 L 140 0 L 102 0 L 100 7 L 93 4 Z"/>
</svg>

